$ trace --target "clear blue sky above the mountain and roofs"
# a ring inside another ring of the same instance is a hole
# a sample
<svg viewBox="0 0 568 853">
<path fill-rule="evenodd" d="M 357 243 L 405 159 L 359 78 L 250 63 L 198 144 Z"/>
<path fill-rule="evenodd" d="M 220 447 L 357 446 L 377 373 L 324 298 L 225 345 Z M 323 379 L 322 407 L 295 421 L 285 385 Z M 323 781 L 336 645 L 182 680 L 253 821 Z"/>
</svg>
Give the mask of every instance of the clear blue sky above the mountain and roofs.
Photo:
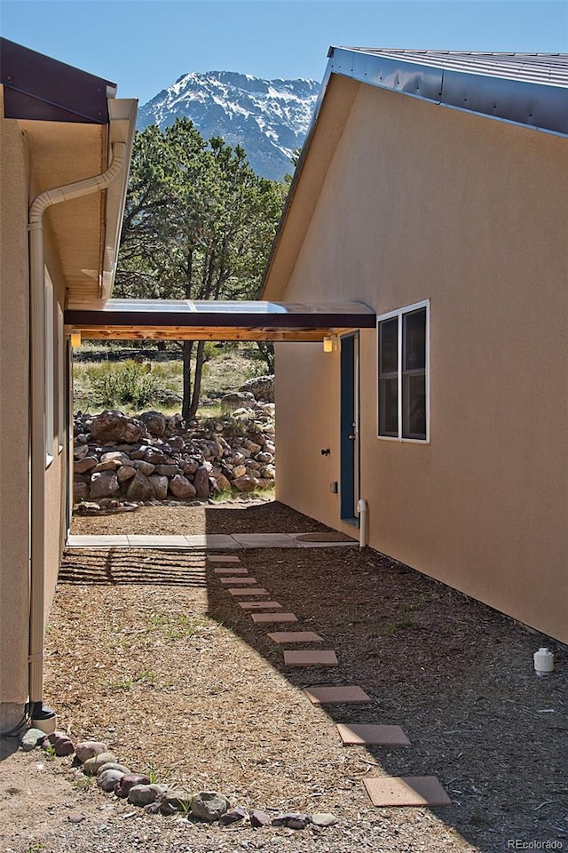
<svg viewBox="0 0 568 853">
<path fill-rule="evenodd" d="M 144 104 L 188 71 L 321 80 L 330 44 L 567 52 L 568 0 L 0 0 L 0 32 Z"/>
</svg>

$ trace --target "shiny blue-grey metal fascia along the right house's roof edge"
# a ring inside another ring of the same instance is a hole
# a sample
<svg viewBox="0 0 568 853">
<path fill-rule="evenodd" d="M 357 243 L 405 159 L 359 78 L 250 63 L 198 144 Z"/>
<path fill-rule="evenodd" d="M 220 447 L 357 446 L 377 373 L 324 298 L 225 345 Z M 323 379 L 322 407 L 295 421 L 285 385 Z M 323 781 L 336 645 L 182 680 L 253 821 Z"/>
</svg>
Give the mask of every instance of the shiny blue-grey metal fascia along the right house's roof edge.
<svg viewBox="0 0 568 853">
<path fill-rule="evenodd" d="M 327 75 L 351 77 L 443 107 L 508 124 L 568 136 L 568 91 L 563 86 L 456 71 L 379 53 L 330 49 Z"/>
</svg>

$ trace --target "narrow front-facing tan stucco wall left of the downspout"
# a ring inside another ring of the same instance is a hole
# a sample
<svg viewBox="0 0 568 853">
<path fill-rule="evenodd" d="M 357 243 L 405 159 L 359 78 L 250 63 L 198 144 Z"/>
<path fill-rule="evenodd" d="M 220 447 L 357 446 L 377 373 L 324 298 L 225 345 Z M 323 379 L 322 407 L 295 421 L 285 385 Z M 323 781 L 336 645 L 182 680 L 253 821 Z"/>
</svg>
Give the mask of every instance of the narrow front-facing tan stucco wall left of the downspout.
<svg viewBox="0 0 568 853">
<path fill-rule="evenodd" d="M 28 695 L 28 149 L 15 122 L 0 120 L 0 155 L 0 729 L 5 729 L 20 719 Z"/>
</svg>

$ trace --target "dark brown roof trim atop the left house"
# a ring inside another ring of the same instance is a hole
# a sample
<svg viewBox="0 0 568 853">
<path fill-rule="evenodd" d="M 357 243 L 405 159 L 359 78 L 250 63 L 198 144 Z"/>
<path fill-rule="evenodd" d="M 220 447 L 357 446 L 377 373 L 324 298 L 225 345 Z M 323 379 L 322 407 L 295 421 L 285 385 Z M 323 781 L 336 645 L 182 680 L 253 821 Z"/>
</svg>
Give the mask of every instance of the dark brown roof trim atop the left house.
<svg viewBox="0 0 568 853">
<path fill-rule="evenodd" d="M 116 84 L 0 38 L 4 118 L 108 124 Z"/>
</svg>

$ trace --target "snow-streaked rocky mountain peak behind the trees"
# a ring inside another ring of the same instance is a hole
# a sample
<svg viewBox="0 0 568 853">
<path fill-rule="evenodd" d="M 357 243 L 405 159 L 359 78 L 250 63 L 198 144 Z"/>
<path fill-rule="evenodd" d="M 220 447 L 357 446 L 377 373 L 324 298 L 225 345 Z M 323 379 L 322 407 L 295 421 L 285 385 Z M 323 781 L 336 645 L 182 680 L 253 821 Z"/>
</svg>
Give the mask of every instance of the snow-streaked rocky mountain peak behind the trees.
<svg viewBox="0 0 568 853">
<path fill-rule="evenodd" d="M 186 116 L 206 140 L 240 144 L 264 178 L 281 179 L 304 142 L 319 95 L 315 80 L 261 80 L 232 71 L 185 74 L 138 111 L 138 130 Z"/>
</svg>

